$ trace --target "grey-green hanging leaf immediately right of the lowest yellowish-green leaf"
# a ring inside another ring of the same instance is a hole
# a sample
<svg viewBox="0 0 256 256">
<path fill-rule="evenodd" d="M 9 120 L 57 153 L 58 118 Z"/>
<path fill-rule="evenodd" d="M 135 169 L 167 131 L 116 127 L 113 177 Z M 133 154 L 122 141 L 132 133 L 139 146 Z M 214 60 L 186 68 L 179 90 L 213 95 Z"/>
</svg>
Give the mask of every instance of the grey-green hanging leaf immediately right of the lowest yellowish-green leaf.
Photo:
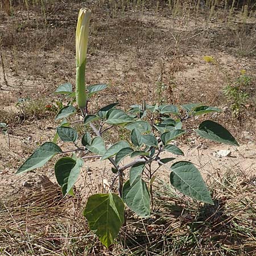
<svg viewBox="0 0 256 256">
<path fill-rule="evenodd" d="M 133 182 L 133 185 L 130 184 L 130 180 L 126 181 L 123 185 L 122 198 L 127 206 L 139 216 L 150 216 L 150 194 L 141 176 Z"/>
</svg>

